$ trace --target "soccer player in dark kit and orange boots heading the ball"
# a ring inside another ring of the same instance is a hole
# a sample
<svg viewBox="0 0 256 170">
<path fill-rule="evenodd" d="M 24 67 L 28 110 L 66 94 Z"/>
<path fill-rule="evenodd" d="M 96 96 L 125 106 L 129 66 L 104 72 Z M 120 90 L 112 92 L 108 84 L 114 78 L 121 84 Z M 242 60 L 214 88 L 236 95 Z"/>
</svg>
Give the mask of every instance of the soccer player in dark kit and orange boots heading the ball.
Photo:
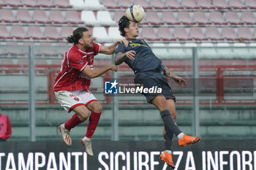
<svg viewBox="0 0 256 170">
<path fill-rule="evenodd" d="M 123 16 L 118 21 L 119 31 L 121 36 L 128 40 L 129 45 L 119 44 L 116 47 L 115 64 L 127 63 L 135 73 L 135 84 L 143 85 L 143 88 L 159 87 L 162 88 L 162 93 L 143 93 L 146 100 L 150 104 L 159 109 L 162 120 L 165 124 L 164 139 L 165 151 L 162 152 L 160 158 L 165 161 L 168 166 L 175 168 L 171 152 L 171 144 L 173 134 L 178 137 L 178 144 L 186 146 L 187 144 L 195 144 L 200 140 L 200 136 L 187 136 L 181 132 L 176 124 L 176 109 L 175 96 L 167 84 L 166 77 L 175 80 L 181 86 L 187 86 L 186 80 L 182 77 L 173 74 L 162 61 L 157 58 L 146 42 L 141 39 L 136 39 L 139 36 L 138 23 L 128 20 Z"/>
</svg>

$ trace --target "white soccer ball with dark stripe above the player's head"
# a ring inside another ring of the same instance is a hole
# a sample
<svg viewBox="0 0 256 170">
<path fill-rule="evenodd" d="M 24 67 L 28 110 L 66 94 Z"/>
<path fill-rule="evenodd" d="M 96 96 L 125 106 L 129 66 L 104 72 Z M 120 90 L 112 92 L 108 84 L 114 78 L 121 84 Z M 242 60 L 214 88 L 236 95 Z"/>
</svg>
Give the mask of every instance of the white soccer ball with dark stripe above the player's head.
<svg viewBox="0 0 256 170">
<path fill-rule="evenodd" d="M 135 23 L 140 23 L 140 21 L 143 20 L 145 15 L 143 7 L 141 7 L 138 4 L 133 4 L 129 6 L 125 13 L 127 15 L 127 18 Z"/>
</svg>

